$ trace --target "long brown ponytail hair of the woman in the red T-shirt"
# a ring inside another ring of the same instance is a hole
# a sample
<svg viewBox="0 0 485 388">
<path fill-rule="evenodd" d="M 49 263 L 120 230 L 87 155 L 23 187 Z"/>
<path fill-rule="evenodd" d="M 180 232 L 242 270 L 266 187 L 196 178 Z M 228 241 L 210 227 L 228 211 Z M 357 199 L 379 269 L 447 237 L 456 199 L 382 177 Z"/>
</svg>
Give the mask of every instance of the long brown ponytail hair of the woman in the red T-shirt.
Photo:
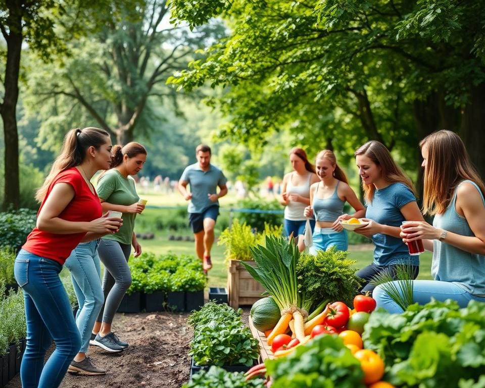
<svg viewBox="0 0 485 388">
<path fill-rule="evenodd" d="M 106 143 L 106 137 L 109 136 L 110 134 L 104 129 L 94 127 L 75 128 L 67 132 L 61 154 L 54 161 L 51 172 L 45 178 L 42 186 L 37 189 L 35 199 L 42 202 L 57 174 L 68 168 L 79 166 L 86 157 L 87 149 L 94 147 L 99 150 Z"/>
</svg>

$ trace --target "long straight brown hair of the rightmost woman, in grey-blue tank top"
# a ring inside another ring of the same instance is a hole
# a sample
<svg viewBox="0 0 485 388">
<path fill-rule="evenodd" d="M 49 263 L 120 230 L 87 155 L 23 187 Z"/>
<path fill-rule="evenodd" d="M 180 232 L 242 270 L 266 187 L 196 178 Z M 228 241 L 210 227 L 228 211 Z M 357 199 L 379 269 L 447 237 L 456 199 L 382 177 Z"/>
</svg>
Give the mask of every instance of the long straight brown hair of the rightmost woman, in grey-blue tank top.
<svg viewBox="0 0 485 388">
<path fill-rule="evenodd" d="M 423 213 L 443 214 L 463 180 L 476 183 L 485 196 L 485 185 L 455 132 L 433 132 L 422 139 L 419 146 L 428 151 L 424 168 Z"/>
</svg>

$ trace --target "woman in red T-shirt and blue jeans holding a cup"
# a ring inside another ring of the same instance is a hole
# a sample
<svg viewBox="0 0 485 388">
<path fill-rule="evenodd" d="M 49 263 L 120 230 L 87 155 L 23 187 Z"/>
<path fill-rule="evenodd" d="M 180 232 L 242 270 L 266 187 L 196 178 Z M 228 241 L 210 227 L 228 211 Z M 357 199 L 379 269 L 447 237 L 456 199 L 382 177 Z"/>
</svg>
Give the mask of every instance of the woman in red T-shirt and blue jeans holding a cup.
<svg viewBox="0 0 485 388">
<path fill-rule="evenodd" d="M 59 386 L 81 349 L 59 273 L 79 243 L 115 233 L 122 223 L 120 218 L 102 216 L 100 200 L 89 181 L 96 171 L 108 168 L 110 161 L 108 132 L 72 129 L 37 190 L 36 199 L 41 202 L 37 223 L 14 265 L 15 279 L 24 291 L 27 320 L 27 347 L 20 368 L 23 387 Z M 56 349 L 44 365 L 53 340 Z"/>
</svg>

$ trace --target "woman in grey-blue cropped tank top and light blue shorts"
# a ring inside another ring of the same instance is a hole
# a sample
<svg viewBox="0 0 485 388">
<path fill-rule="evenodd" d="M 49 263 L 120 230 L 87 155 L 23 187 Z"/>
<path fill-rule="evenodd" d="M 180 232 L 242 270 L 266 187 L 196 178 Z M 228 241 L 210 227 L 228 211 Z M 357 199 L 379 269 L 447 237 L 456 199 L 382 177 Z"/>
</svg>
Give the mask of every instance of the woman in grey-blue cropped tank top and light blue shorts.
<svg viewBox="0 0 485 388">
<path fill-rule="evenodd" d="M 326 251 L 331 247 L 347 251 L 349 241 L 347 230 L 341 220 L 365 215 L 364 205 L 358 200 L 349 181 L 330 150 L 320 151 L 315 160 L 315 167 L 320 181 L 310 187 L 310 206 L 305 208 L 305 217 L 315 217 L 313 245 L 310 253 Z M 355 210 L 352 215 L 344 214 L 344 205 L 348 202 Z"/>
</svg>

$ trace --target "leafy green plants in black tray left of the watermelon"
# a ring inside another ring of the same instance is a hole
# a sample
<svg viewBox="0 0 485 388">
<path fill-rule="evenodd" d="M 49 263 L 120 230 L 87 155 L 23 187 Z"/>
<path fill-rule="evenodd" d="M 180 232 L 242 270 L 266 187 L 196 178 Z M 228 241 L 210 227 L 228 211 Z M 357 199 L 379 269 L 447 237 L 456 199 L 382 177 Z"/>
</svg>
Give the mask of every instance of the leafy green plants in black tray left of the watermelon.
<svg viewBox="0 0 485 388">
<path fill-rule="evenodd" d="M 241 320 L 242 310 L 209 302 L 188 317 L 193 326 L 189 355 L 199 366 L 254 364 L 259 345 Z"/>
</svg>

